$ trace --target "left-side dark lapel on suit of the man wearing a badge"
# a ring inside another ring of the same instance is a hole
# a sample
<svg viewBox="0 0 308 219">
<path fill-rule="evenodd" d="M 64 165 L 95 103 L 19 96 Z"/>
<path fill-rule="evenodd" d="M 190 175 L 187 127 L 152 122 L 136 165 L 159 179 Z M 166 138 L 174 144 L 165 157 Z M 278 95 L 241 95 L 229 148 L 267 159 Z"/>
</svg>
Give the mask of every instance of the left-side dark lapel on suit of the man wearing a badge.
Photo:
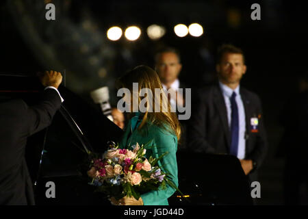
<svg viewBox="0 0 308 219">
<path fill-rule="evenodd" d="M 231 136 L 228 125 L 227 109 L 226 109 L 226 103 L 224 103 L 224 96 L 222 96 L 222 92 L 220 91 L 219 86 L 215 86 L 214 88 L 214 103 L 216 109 L 219 112 L 220 120 L 222 122 L 222 127 L 224 129 L 224 136 L 227 140 L 227 149 L 229 149 L 231 144 Z"/>
</svg>

